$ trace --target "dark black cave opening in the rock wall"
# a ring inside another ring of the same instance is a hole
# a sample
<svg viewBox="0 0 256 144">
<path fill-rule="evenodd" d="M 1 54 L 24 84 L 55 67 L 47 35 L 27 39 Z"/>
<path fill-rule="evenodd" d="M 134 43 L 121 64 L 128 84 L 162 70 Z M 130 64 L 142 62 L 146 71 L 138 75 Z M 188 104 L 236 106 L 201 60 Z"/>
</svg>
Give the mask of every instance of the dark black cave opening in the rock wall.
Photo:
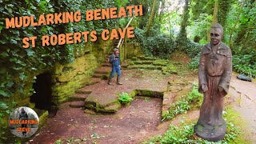
<svg viewBox="0 0 256 144">
<path fill-rule="evenodd" d="M 36 76 L 33 89 L 35 93 L 31 96 L 30 102 L 34 102 L 37 109 L 50 110 L 52 107 L 51 74 L 43 73 Z"/>
</svg>

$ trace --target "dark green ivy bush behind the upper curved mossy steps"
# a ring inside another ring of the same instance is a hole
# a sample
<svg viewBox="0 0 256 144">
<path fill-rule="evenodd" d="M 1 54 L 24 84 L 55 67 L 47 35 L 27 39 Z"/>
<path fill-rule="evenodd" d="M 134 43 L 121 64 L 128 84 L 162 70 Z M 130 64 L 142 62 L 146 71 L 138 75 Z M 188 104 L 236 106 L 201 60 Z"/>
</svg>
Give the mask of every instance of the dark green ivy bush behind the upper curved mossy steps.
<svg viewBox="0 0 256 144">
<path fill-rule="evenodd" d="M 153 28 L 153 30 L 155 30 Z M 159 58 L 169 58 L 170 53 L 174 51 L 173 40 L 164 34 L 160 34 L 155 30 L 152 35 L 146 37 L 145 30 L 136 28 L 134 30 L 136 40 L 139 42 L 142 51 L 147 56 L 155 56 Z"/>
</svg>

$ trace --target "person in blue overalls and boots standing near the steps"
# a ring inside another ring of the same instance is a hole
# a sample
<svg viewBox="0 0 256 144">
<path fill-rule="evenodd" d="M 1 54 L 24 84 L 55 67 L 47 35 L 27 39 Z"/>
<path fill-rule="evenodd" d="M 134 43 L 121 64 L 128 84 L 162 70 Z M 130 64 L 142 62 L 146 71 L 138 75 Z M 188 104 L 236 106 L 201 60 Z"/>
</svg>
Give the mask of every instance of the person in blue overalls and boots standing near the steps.
<svg viewBox="0 0 256 144">
<path fill-rule="evenodd" d="M 120 82 L 120 77 L 121 77 L 121 65 L 120 65 L 120 58 L 119 58 L 119 50 L 118 48 L 114 48 L 113 49 L 114 54 L 110 55 L 110 64 L 112 66 L 112 71 L 108 80 L 108 84 L 112 85 L 111 80 L 114 77 L 114 74 L 118 74 L 118 78 L 117 78 L 117 84 L 118 85 L 122 85 L 122 83 Z"/>
</svg>

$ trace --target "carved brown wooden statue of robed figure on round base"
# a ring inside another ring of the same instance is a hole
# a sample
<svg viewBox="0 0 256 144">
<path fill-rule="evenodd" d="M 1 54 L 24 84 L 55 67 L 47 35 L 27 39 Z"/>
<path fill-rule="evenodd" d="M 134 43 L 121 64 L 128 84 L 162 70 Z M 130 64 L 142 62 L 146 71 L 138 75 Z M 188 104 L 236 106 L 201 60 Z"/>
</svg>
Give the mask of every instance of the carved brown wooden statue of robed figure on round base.
<svg viewBox="0 0 256 144">
<path fill-rule="evenodd" d="M 214 24 L 210 30 L 210 43 L 202 46 L 198 69 L 198 91 L 204 99 L 194 131 L 209 141 L 222 140 L 226 134 L 222 110 L 223 99 L 230 86 L 232 54 L 229 46 L 222 42 L 222 37 L 222 26 Z"/>
</svg>

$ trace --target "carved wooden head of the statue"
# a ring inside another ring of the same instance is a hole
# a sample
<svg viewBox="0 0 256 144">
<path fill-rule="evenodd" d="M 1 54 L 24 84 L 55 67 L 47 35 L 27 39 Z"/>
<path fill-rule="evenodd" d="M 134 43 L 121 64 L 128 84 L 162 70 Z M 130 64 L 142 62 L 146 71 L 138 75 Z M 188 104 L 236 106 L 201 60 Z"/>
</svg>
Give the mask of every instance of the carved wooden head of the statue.
<svg viewBox="0 0 256 144">
<path fill-rule="evenodd" d="M 223 37 L 223 27 L 222 25 L 215 23 L 211 26 L 210 30 L 210 43 L 213 45 L 218 45 L 222 41 Z"/>
</svg>

